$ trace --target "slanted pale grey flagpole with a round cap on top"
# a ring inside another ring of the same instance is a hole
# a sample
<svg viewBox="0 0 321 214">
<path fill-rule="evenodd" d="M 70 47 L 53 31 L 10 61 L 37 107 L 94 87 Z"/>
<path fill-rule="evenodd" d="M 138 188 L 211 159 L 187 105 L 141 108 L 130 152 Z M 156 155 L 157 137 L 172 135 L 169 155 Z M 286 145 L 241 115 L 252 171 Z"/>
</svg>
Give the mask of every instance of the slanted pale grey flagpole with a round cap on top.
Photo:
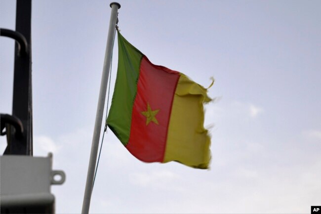
<svg viewBox="0 0 321 214">
<path fill-rule="evenodd" d="M 100 91 L 99 91 L 99 98 L 98 98 L 98 105 L 97 105 L 97 112 L 96 112 L 96 121 L 95 121 L 94 133 L 92 136 L 86 187 L 85 187 L 85 192 L 83 196 L 83 203 L 82 203 L 82 210 L 81 210 L 82 214 L 89 213 L 90 198 L 92 193 L 92 185 L 93 185 L 96 160 L 97 160 L 97 152 L 98 152 L 98 146 L 99 146 L 100 130 L 101 130 L 101 124 L 103 120 L 103 113 L 104 113 L 107 83 L 108 83 L 109 70 L 110 70 L 111 60 L 112 60 L 113 43 L 115 40 L 117 11 L 120 8 L 120 4 L 117 2 L 112 2 L 110 4 L 110 7 L 112 8 L 112 12 L 110 15 L 103 74 L 102 74 L 101 83 L 100 83 Z"/>
</svg>

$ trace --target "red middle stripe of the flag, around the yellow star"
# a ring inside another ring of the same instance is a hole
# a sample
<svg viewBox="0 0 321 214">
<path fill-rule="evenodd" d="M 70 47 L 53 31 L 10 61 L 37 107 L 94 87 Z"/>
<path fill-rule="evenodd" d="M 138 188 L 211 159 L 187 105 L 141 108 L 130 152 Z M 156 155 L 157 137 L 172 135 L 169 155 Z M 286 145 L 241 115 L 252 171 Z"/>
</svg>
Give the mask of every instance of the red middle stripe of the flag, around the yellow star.
<svg viewBox="0 0 321 214">
<path fill-rule="evenodd" d="M 164 158 L 167 128 L 179 72 L 152 64 L 146 56 L 140 65 L 137 94 L 134 101 L 128 151 L 144 162 L 162 162 Z M 158 125 L 141 113 L 159 110 L 155 116 Z"/>
</svg>

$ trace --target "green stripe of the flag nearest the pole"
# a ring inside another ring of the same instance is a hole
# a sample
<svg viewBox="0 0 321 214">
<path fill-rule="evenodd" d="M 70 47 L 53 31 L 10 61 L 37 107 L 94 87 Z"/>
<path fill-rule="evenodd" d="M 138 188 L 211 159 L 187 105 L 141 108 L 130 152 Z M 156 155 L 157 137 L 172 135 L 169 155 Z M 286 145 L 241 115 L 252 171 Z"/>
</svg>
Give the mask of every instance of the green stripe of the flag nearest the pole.
<svg viewBox="0 0 321 214">
<path fill-rule="evenodd" d="M 124 145 L 128 143 L 131 113 L 143 54 L 118 33 L 118 70 L 107 123 Z"/>
</svg>

